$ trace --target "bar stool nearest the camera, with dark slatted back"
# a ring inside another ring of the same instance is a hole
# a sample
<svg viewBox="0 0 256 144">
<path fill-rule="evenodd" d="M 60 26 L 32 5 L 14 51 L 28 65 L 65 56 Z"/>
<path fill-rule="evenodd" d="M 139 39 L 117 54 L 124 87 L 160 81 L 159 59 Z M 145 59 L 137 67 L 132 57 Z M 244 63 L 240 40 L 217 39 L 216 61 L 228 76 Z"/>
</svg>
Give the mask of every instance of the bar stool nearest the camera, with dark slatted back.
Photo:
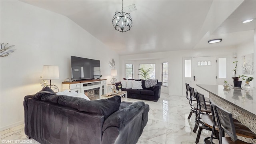
<svg viewBox="0 0 256 144">
<path fill-rule="evenodd" d="M 251 132 L 247 127 L 244 128 L 240 122 L 232 118 L 232 114 L 216 104 L 210 104 L 210 108 L 212 111 L 212 120 L 214 121 L 212 130 L 217 126 L 219 129 L 219 136 L 214 137 L 212 133 L 211 137 L 207 137 L 204 139 L 204 144 L 214 144 L 213 139 L 218 139 L 219 144 L 248 144 L 242 140 L 237 139 L 237 135 L 241 135 L 246 137 L 255 137 L 255 134 Z M 237 125 L 237 126 L 235 126 Z M 242 126 L 242 127 L 241 127 Z M 241 128 L 243 128 L 241 130 Z M 224 137 L 224 133 L 229 137 Z M 209 140 L 210 139 L 210 140 Z"/>
</svg>

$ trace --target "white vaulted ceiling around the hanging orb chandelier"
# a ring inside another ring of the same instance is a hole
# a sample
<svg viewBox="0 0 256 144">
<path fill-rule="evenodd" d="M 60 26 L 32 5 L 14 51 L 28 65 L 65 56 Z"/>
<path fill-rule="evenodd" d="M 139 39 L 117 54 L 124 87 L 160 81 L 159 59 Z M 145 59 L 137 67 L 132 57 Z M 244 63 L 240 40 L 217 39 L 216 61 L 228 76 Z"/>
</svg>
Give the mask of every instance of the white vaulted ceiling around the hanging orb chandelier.
<svg viewBox="0 0 256 144">
<path fill-rule="evenodd" d="M 121 0 L 23 0 L 67 16 L 120 55 L 220 48 L 253 39 L 256 0 L 124 0 L 135 4 L 132 28 L 114 30 L 112 18 Z M 243 24 L 242 21 L 254 18 Z M 222 42 L 208 44 L 208 40 Z"/>
</svg>

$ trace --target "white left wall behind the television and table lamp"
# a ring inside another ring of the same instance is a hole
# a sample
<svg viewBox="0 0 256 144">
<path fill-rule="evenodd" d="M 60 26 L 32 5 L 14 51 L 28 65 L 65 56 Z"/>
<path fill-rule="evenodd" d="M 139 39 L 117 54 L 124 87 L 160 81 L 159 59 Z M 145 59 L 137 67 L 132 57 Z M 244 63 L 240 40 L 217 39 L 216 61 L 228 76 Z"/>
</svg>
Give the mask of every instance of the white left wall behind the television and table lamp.
<svg viewBox="0 0 256 144">
<path fill-rule="evenodd" d="M 119 55 L 107 48 L 69 18 L 20 1 L 1 2 L 1 42 L 15 45 L 16 51 L 0 58 L 1 130 L 24 121 L 24 96 L 42 86 L 43 65 L 59 66 L 60 79 L 70 78 L 70 56 L 100 60 L 102 78 L 110 83 L 111 58 Z"/>
</svg>

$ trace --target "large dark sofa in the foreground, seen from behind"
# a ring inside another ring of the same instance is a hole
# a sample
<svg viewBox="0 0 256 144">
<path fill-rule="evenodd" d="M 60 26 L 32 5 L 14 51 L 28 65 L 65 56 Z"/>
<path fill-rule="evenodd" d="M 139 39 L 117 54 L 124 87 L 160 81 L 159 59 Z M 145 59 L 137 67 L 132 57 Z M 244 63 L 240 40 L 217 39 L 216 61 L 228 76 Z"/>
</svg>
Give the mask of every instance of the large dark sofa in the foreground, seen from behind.
<svg viewBox="0 0 256 144">
<path fill-rule="evenodd" d="M 46 87 L 25 96 L 25 134 L 41 144 L 136 144 L 149 105 L 120 96 L 88 101 Z"/>
</svg>

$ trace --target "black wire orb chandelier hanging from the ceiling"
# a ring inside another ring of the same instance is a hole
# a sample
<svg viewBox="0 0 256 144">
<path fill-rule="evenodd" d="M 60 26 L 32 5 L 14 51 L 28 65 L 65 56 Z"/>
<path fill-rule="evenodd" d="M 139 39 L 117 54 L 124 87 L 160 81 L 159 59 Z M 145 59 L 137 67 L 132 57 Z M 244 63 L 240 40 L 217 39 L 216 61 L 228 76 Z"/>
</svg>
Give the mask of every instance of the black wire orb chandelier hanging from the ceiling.
<svg viewBox="0 0 256 144">
<path fill-rule="evenodd" d="M 112 20 L 115 30 L 119 32 L 127 32 L 132 27 L 132 18 L 130 13 L 125 13 L 123 10 L 123 0 L 122 0 L 122 12 L 116 12 Z"/>
</svg>

